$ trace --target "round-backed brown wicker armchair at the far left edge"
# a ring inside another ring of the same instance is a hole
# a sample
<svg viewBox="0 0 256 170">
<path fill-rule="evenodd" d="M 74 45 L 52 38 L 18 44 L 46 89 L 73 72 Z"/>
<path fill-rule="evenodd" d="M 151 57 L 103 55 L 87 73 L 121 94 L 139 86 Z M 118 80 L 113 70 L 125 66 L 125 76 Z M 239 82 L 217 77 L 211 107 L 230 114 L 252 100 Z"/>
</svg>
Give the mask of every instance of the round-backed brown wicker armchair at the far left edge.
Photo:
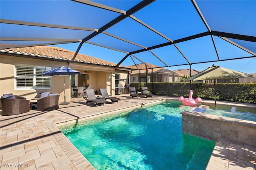
<svg viewBox="0 0 256 170">
<path fill-rule="evenodd" d="M 29 100 L 25 97 L 13 95 L 14 99 L 1 98 L 2 116 L 18 115 L 30 111 Z"/>
</svg>

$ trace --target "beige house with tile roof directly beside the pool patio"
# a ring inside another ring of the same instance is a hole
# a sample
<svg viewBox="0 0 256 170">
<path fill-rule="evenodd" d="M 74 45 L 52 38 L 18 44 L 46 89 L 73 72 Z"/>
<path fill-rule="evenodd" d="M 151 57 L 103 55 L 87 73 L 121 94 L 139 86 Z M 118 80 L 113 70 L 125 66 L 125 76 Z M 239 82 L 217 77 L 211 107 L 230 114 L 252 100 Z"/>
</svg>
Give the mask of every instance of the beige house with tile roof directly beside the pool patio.
<svg viewBox="0 0 256 170">
<path fill-rule="evenodd" d="M 43 76 L 41 73 L 61 66 L 70 67 L 82 75 L 65 76 L 66 101 L 70 101 L 71 86 L 90 86 L 99 90 L 106 88 L 115 94 L 116 84 L 125 86 L 131 71 L 128 67 L 115 67 L 116 63 L 104 61 L 52 46 L 20 47 L 0 51 L 0 94 L 13 93 L 32 99 L 37 93 L 50 91 L 60 95 L 64 101 L 63 76 Z"/>
</svg>

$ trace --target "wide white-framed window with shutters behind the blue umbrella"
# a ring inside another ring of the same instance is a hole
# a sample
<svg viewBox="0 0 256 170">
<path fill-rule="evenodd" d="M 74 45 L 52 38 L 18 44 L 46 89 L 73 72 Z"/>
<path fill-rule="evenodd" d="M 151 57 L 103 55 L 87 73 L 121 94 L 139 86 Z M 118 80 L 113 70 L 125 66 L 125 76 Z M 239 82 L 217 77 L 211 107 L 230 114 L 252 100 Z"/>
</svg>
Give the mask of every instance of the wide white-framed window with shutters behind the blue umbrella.
<svg viewBox="0 0 256 170">
<path fill-rule="evenodd" d="M 25 89 L 51 89 L 51 76 L 42 75 L 45 71 L 51 70 L 52 67 L 36 65 L 15 65 L 14 87 L 16 90 Z"/>
</svg>

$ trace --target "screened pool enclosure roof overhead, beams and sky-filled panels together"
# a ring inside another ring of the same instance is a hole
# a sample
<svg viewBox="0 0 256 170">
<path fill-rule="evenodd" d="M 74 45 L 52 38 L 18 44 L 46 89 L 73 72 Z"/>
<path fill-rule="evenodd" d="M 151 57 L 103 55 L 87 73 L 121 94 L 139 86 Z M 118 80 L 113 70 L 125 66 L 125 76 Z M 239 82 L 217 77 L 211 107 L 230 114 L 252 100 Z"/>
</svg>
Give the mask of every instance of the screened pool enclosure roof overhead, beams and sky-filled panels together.
<svg viewBox="0 0 256 170">
<path fill-rule="evenodd" d="M 243 59 L 256 57 L 255 9 L 255 0 L 1 0 L 0 47 L 74 43 L 74 60 L 96 45 L 119 51 L 117 66 Z"/>
</svg>

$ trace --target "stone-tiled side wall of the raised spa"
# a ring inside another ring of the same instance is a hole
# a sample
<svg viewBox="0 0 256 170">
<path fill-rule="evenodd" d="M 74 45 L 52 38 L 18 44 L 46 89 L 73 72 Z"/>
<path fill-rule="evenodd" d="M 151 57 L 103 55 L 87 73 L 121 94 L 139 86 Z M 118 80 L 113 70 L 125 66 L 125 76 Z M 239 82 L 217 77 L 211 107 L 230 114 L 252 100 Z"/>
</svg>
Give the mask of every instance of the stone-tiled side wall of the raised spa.
<svg viewBox="0 0 256 170">
<path fill-rule="evenodd" d="M 193 111 L 183 111 L 182 132 L 207 140 L 225 138 L 256 146 L 256 122 L 209 115 Z"/>
</svg>

